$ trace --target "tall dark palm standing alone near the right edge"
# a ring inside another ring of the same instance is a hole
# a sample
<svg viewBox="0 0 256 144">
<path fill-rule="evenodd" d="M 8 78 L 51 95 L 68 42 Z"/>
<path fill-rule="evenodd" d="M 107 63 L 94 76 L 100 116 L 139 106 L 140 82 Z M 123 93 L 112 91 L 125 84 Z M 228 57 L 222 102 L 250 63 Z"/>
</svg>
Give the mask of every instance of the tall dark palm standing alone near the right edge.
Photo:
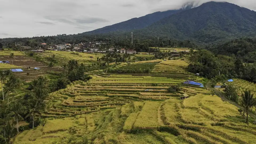
<svg viewBox="0 0 256 144">
<path fill-rule="evenodd" d="M 242 94 L 242 105 L 244 106 L 246 112 L 246 123 L 249 125 L 248 121 L 248 110 L 254 105 L 255 99 L 250 90 L 245 90 Z"/>
</svg>

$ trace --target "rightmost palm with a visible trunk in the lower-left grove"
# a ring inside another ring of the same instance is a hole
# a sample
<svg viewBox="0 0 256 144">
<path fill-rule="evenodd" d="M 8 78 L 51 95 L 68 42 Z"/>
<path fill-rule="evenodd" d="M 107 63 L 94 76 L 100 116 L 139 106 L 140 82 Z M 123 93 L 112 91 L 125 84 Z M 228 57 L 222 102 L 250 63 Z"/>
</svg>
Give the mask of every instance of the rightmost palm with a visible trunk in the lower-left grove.
<svg viewBox="0 0 256 144">
<path fill-rule="evenodd" d="M 34 122 L 35 122 L 35 115 L 41 114 L 41 107 L 37 104 L 37 101 L 32 100 L 29 102 L 28 106 L 28 114 L 26 115 L 26 118 L 30 116 L 31 119 L 33 119 L 33 129 L 34 129 Z"/>
</svg>

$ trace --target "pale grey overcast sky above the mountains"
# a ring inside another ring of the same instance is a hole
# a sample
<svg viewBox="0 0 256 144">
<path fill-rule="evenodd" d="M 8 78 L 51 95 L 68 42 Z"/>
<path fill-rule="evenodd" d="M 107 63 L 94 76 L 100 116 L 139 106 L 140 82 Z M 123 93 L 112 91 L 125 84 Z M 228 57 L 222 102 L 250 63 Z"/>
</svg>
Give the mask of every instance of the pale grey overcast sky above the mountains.
<svg viewBox="0 0 256 144">
<path fill-rule="evenodd" d="M 209 0 L 210 1 L 210 0 Z M 218 1 L 218 0 L 217 0 Z M 77 34 L 189 0 L 0 0 L 0 38 Z M 195 0 L 200 5 L 208 0 Z M 256 11 L 256 0 L 227 0 Z"/>
</svg>

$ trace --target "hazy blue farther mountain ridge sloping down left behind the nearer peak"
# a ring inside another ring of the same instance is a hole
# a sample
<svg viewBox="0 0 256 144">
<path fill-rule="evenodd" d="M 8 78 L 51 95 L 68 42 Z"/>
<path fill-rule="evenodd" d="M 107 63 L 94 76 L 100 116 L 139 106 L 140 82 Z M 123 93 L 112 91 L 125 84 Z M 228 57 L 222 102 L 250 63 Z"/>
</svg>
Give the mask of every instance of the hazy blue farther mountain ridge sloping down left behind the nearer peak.
<svg viewBox="0 0 256 144">
<path fill-rule="evenodd" d="M 87 34 L 101 34 L 101 33 L 108 33 L 108 32 L 114 32 L 114 31 L 130 31 L 135 29 L 142 29 L 149 25 L 151 25 L 154 22 L 159 21 L 160 19 L 169 17 L 170 15 L 179 13 L 181 11 L 185 11 L 187 9 L 191 9 L 193 7 L 193 4 L 187 4 L 184 5 L 179 10 L 167 10 L 167 11 L 158 11 L 152 14 L 147 14 L 143 17 L 139 18 L 132 18 L 130 20 L 120 22 L 111 26 L 105 26 L 100 29 L 96 29 L 93 31 L 85 32 Z"/>
</svg>

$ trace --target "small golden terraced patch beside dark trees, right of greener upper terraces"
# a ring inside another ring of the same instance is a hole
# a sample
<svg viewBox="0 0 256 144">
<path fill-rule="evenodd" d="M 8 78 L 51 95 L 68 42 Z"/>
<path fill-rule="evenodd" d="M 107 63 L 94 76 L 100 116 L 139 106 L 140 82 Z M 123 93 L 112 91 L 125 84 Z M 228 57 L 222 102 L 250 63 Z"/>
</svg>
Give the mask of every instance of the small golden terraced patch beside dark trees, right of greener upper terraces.
<svg viewBox="0 0 256 144">
<path fill-rule="evenodd" d="M 155 65 L 152 72 L 189 74 L 187 71 L 188 65 L 189 61 L 161 61 L 160 63 Z"/>
</svg>

